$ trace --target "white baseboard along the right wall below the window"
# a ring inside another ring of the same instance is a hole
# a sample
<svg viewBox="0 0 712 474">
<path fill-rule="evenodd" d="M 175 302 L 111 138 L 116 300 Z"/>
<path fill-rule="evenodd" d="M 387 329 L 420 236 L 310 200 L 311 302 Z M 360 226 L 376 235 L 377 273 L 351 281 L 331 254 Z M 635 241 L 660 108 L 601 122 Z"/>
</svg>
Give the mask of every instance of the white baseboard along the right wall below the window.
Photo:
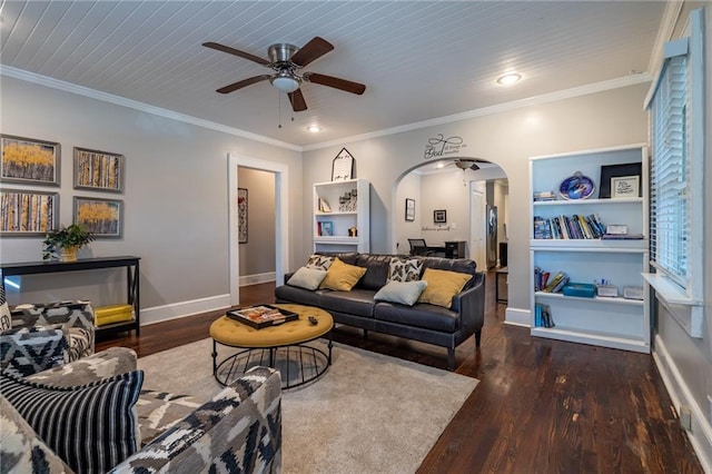
<svg viewBox="0 0 712 474">
<path fill-rule="evenodd" d="M 712 426 L 704 415 L 705 411 L 695 402 L 690 387 L 688 387 L 660 336 L 655 336 L 653 358 L 678 414 L 680 414 L 681 405 L 686 405 L 690 408 L 692 431 L 685 433 L 702 468 L 705 473 L 712 473 Z"/>
</svg>

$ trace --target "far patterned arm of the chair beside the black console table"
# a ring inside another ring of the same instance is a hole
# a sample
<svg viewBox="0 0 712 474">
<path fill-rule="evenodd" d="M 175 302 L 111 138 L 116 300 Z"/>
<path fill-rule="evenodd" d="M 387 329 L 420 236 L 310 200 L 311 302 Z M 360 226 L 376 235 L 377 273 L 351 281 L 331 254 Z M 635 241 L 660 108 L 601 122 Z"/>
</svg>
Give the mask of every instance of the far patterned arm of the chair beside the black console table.
<svg viewBox="0 0 712 474">
<path fill-rule="evenodd" d="M 89 302 L 23 304 L 11 308 L 12 328 L 65 325 L 70 333 L 70 361 L 93 354 L 95 317 Z"/>
</svg>

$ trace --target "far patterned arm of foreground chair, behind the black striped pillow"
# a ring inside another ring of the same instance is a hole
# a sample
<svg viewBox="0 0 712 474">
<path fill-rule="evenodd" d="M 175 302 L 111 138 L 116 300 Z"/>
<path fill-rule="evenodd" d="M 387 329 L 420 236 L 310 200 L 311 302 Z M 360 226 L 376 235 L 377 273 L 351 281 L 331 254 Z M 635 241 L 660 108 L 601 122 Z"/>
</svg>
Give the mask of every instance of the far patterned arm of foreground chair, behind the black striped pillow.
<svg viewBox="0 0 712 474">
<path fill-rule="evenodd" d="M 26 378 L 47 385 L 71 387 L 136 371 L 136 353 L 128 347 L 111 347 Z"/>
</svg>

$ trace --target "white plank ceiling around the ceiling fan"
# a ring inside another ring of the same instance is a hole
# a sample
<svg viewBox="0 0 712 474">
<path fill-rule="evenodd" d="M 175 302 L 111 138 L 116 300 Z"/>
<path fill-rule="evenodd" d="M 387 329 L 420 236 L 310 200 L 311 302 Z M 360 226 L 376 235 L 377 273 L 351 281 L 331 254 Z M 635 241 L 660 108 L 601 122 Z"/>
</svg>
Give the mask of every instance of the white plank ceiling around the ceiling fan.
<svg viewBox="0 0 712 474">
<path fill-rule="evenodd" d="M 3 1 L 0 63 L 309 147 L 645 72 L 664 8 L 662 1 Z M 363 82 L 363 96 L 303 83 L 308 110 L 295 113 L 268 81 L 215 91 L 271 70 L 202 42 L 267 58 L 273 43 L 303 46 L 315 36 L 335 50 L 305 70 Z M 523 80 L 496 85 L 510 70 Z M 323 131 L 307 132 L 313 124 Z"/>
</svg>

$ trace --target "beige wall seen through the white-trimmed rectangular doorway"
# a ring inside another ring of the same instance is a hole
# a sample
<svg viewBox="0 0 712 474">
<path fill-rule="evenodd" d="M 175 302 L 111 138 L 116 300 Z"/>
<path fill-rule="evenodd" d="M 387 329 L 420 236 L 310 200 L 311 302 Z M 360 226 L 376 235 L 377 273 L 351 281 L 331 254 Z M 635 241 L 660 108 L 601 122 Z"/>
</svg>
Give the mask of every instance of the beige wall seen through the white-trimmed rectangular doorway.
<svg viewBox="0 0 712 474">
<path fill-rule="evenodd" d="M 247 244 L 240 244 L 240 278 L 275 271 L 275 174 L 239 168 L 247 189 Z M 264 279 L 263 279 L 264 280 Z"/>
</svg>

